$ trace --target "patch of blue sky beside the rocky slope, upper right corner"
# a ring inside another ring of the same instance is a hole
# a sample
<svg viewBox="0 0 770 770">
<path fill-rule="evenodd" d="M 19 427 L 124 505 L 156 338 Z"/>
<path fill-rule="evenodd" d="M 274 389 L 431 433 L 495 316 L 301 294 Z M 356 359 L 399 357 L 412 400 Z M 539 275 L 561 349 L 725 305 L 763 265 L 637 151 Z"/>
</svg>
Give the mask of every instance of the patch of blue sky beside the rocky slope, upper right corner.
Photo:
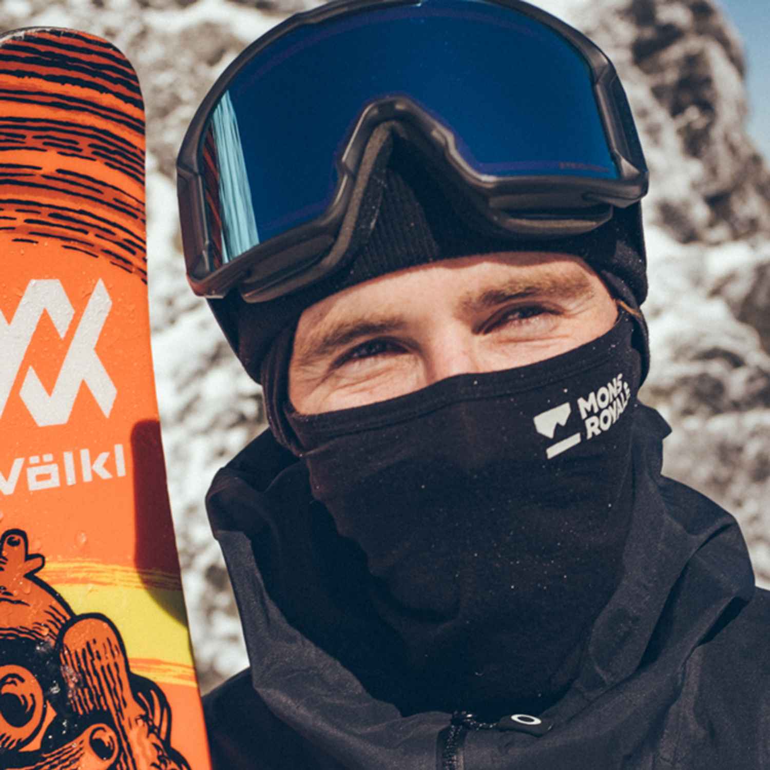
<svg viewBox="0 0 770 770">
<path fill-rule="evenodd" d="M 768 0 L 718 0 L 743 39 L 751 115 L 748 131 L 770 161 L 770 5 Z"/>
</svg>

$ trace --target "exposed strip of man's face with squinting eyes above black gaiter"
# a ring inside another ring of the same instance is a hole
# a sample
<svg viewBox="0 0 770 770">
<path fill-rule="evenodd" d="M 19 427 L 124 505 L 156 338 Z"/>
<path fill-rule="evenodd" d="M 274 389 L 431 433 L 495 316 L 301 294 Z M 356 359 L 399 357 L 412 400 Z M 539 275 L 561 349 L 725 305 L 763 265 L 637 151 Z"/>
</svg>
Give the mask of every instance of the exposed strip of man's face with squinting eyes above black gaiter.
<svg viewBox="0 0 770 770">
<path fill-rule="evenodd" d="M 574 256 L 499 253 L 412 267 L 305 310 L 289 397 L 314 414 L 455 374 L 524 367 L 595 340 L 616 317 L 604 283 Z"/>
</svg>

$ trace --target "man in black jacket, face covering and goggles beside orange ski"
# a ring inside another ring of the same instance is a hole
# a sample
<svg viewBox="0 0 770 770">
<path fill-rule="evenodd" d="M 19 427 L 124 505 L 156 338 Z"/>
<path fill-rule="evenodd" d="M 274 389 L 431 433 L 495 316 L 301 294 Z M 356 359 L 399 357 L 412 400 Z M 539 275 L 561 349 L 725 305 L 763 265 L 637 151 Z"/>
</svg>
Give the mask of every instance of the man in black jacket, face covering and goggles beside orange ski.
<svg viewBox="0 0 770 770">
<path fill-rule="evenodd" d="M 215 85 L 188 275 L 270 425 L 207 500 L 218 767 L 770 764 L 766 594 L 636 398 L 646 187 L 612 65 L 517 0 L 333 4 Z"/>
</svg>

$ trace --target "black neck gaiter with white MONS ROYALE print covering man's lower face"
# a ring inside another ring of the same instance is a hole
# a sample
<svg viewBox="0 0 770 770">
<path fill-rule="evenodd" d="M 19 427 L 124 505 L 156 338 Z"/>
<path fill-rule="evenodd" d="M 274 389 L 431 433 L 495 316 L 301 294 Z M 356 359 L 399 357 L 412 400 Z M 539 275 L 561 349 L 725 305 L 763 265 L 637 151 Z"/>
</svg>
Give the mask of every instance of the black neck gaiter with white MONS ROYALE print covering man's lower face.
<svg viewBox="0 0 770 770">
<path fill-rule="evenodd" d="M 577 675 L 631 521 L 633 323 L 531 366 L 286 410 L 313 497 L 403 640 L 410 710 L 542 711 Z"/>
</svg>

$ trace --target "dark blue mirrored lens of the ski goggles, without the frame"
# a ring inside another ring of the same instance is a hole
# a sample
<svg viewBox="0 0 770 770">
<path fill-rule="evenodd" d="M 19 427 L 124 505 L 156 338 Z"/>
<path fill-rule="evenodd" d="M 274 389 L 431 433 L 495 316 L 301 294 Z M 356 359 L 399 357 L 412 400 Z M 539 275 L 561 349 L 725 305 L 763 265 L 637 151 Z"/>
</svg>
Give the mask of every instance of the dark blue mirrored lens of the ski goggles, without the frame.
<svg viewBox="0 0 770 770">
<path fill-rule="evenodd" d="M 479 173 L 619 176 L 588 64 L 551 28 L 475 0 L 370 7 L 286 33 L 219 100 L 201 147 L 215 261 L 322 215 L 362 110 L 399 95 Z"/>
</svg>

